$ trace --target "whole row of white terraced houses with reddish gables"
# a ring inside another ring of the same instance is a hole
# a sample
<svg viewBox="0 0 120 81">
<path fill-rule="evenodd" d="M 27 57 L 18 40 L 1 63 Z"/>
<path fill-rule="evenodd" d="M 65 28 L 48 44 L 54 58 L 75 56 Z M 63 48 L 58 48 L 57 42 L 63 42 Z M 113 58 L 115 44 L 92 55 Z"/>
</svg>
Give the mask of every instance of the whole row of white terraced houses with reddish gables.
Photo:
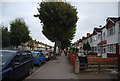
<svg viewBox="0 0 120 81">
<path fill-rule="evenodd" d="M 83 44 L 88 42 L 91 46 L 89 54 L 102 58 L 117 57 L 120 54 L 120 17 L 109 17 L 103 27 L 94 28 L 93 33 L 87 33 L 73 44 L 83 52 Z M 80 45 L 80 46 L 79 46 Z"/>
</svg>

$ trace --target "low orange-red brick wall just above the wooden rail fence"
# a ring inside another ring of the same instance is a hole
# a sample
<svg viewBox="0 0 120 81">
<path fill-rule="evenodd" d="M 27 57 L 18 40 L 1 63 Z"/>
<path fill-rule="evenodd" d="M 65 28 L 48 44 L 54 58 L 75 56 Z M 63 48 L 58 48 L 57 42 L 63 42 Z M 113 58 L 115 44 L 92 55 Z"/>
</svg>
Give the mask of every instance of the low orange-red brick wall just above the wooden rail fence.
<svg viewBox="0 0 120 81">
<path fill-rule="evenodd" d="M 117 63 L 117 58 L 88 57 L 88 62 L 112 62 Z"/>
</svg>

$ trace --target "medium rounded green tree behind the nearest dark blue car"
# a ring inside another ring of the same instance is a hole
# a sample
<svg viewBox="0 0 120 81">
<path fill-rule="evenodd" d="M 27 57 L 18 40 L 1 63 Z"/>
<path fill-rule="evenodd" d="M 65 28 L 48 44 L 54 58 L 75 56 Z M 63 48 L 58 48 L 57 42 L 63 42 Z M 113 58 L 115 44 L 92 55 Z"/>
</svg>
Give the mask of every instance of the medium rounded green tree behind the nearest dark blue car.
<svg viewBox="0 0 120 81">
<path fill-rule="evenodd" d="M 17 18 L 10 23 L 11 44 L 18 46 L 30 40 L 28 26 L 22 18 Z"/>
</svg>

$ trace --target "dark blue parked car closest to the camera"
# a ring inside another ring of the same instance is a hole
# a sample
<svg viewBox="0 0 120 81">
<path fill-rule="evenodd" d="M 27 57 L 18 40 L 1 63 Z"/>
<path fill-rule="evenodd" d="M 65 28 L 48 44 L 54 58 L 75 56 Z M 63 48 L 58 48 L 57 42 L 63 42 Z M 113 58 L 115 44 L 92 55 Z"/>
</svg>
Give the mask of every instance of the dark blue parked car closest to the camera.
<svg viewBox="0 0 120 81">
<path fill-rule="evenodd" d="M 18 81 L 33 72 L 33 57 L 30 51 L 0 50 L 0 58 L 2 81 Z"/>
</svg>

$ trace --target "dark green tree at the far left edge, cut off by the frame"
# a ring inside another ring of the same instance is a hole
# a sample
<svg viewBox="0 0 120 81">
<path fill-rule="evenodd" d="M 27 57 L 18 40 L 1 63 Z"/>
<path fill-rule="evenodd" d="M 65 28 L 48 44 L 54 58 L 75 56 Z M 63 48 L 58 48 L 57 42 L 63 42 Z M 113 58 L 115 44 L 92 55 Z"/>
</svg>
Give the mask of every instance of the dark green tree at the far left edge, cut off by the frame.
<svg viewBox="0 0 120 81">
<path fill-rule="evenodd" d="M 2 29 L 2 47 L 9 47 L 11 45 L 10 32 L 7 27 L 1 27 Z"/>
</svg>

